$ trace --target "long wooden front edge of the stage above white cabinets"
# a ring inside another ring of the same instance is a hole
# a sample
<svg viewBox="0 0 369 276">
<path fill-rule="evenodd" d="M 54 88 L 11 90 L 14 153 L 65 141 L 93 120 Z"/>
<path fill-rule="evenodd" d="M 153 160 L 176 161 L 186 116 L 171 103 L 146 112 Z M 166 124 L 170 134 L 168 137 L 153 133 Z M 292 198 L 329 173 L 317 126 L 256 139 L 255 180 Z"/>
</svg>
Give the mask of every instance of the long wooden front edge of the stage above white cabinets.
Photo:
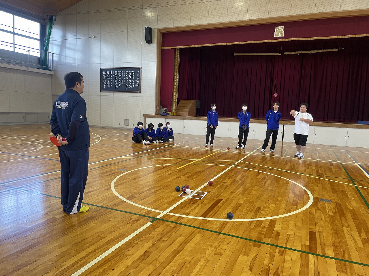
<svg viewBox="0 0 369 276">
<path fill-rule="evenodd" d="M 206 116 L 174 116 L 174 115 L 153 115 L 153 114 L 144 114 L 145 120 L 146 118 L 163 118 L 165 121 L 170 120 L 197 120 L 197 121 L 206 121 Z M 238 118 L 234 117 L 219 117 L 219 121 L 221 122 L 238 122 Z M 251 119 L 250 123 L 265 123 L 263 118 Z M 294 120 L 281 120 L 279 121 L 280 125 L 294 125 Z M 358 129 L 367 129 L 369 130 L 369 125 L 361 125 L 354 123 L 345 123 L 345 122 L 322 122 L 322 121 L 314 121 L 315 127 L 344 127 L 344 128 L 358 128 Z"/>
</svg>

